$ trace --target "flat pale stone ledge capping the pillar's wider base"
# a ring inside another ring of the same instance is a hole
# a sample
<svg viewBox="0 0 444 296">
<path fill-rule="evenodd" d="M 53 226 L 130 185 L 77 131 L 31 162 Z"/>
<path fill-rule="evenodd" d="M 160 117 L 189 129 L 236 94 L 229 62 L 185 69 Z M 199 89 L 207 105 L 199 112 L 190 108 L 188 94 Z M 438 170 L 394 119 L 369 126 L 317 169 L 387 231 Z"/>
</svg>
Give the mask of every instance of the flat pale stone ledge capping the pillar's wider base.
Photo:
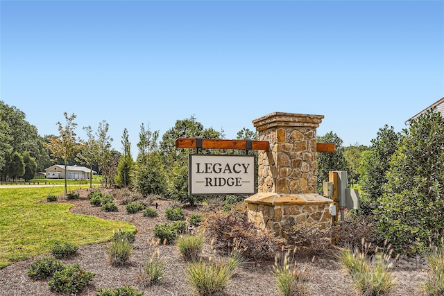
<svg viewBox="0 0 444 296">
<path fill-rule="evenodd" d="M 245 200 L 245 202 L 275 206 L 291 204 L 332 204 L 333 200 L 330 200 L 330 198 L 325 198 L 325 196 L 317 193 L 280 195 L 278 193 L 266 192 L 251 195 Z"/>
</svg>

